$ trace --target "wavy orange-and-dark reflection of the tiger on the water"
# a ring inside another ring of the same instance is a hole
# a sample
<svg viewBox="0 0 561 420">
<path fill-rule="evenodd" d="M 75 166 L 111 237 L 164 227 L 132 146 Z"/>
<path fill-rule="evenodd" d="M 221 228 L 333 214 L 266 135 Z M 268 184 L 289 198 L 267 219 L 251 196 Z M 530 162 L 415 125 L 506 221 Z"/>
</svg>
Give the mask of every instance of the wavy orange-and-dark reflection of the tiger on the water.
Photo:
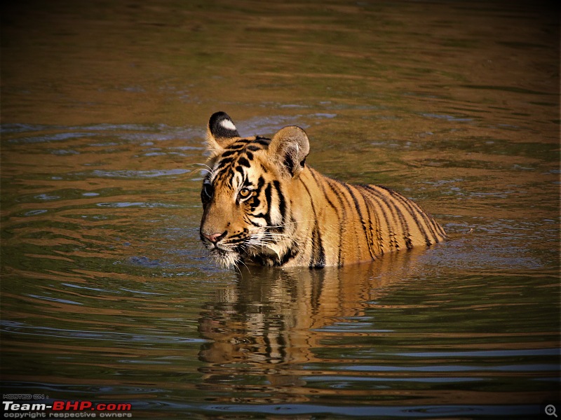
<svg viewBox="0 0 561 420">
<path fill-rule="evenodd" d="M 219 290 L 203 311 L 200 332 L 210 341 L 199 353 L 207 363 L 201 386 L 223 393 L 220 402 L 304 402 L 312 393 L 336 393 L 304 386 L 303 377 L 312 374 L 305 366 L 330 363 L 317 351 L 323 340 L 339 337 L 336 323 L 363 316 L 385 288 L 410 275 L 418 256 L 393 253 L 323 270 L 242 268 L 236 284 Z M 356 333 L 349 328 L 345 334 Z"/>
</svg>

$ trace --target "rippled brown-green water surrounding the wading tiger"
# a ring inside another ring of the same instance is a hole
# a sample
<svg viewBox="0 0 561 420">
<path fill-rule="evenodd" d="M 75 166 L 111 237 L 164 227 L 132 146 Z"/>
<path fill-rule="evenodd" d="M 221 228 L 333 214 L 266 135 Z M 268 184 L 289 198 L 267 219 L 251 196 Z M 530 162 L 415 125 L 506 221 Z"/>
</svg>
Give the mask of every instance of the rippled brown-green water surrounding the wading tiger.
<svg viewBox="0 0 561 420">
<path fill-rule="evenodd" d="M 539 416 L 561 399 L 555 7 L 6 6 L 3 393 L 150 419 Z M 215 267 L 218 110 L 246 135 L 304 127 L 311 166 L 412 197 L 450 241 Z"/>
</svg>

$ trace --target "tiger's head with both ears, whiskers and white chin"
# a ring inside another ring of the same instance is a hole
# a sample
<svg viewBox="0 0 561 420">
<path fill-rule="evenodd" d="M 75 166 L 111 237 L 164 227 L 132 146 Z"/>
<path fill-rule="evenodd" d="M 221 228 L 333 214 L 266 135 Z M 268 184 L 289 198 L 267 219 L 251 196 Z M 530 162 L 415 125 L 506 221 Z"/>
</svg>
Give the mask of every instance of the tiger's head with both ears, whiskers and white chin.
<svg viewBox="0 0 561 420">
<path fill-rule="evenodd" d="M 291 186 L 305 168 L 306 133 L 290 126 L 271 139 L 241 137 L 227 113 L 217 112 L 207 142 L 201 241 L 224 267 L 244 260 L 282 265 L 295 248 Z"/>
</svg>

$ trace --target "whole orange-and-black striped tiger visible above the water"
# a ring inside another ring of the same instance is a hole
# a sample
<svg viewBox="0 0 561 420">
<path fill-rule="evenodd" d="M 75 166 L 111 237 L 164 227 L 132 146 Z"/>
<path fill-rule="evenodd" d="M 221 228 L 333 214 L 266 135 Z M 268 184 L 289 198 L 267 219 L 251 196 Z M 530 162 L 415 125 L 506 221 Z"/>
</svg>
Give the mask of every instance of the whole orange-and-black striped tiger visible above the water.
<svg viewBox="0 0 561 420">
<path fill-rule="evenodd" d="M 201 241 L 223 267 L 343 266 L 431 246 L 445 231 L 393 190 L 350 185 L 306 165 L 304 130 L 241 137 L 224 112 L 208 122 Z"/>
</svg>

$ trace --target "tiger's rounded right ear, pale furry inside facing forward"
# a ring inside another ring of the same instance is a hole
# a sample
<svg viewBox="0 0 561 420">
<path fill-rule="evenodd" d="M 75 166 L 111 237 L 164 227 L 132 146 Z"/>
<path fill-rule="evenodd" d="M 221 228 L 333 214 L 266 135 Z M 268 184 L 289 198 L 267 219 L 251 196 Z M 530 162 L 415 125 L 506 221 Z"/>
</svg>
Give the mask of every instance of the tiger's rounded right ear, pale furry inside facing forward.
<svg viewBox="0 0 561 420">
<path fill-rule="evenodd" d="M 273 136 L 268 151 L 271 159 L 277 162 L 283 172 L 296 178 L 304 169 L 310 142 L 302 128 L 290 125 Z"/>
</svg>

